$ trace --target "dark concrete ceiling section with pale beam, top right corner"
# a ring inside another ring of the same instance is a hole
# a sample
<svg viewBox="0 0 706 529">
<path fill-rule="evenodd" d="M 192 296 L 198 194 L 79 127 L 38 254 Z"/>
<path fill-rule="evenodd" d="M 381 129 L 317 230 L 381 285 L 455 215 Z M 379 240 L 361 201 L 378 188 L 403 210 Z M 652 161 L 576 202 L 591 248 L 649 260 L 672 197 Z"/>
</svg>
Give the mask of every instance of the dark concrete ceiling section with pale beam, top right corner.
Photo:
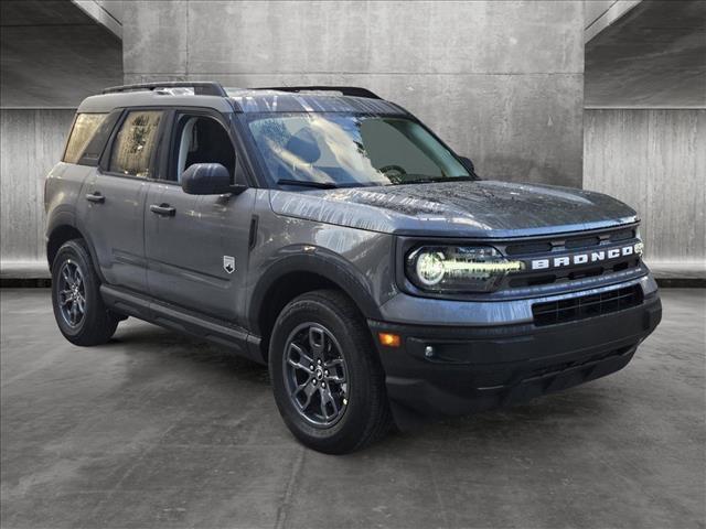
<svg viewBox="0 0 706 529">
<path fill-rule="evenodd" d="M 706 107 L 703 0 L 620 0 L 586 37 L 587 107 Z"/>
</svg>

